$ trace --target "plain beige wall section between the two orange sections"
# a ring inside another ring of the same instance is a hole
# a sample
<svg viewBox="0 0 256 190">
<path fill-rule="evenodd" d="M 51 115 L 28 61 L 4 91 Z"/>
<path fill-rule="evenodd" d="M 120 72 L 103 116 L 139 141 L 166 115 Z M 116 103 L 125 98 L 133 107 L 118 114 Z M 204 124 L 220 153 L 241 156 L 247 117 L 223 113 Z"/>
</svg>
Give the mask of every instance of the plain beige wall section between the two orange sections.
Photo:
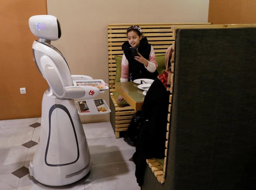
<svg viewBox="0 0 256 190">
<path fill-rule="evenodd" d="M 48 14 L 61 25 L 52 42 L 65 56 L 72 74 L 108 83 L 108 23 L 207 22 L 208 0 L 47 0 Z M 99 96 L 109 103 L 109 91 Z M 109 114 L 81 117 L 108 121 Z"/>
</svg>

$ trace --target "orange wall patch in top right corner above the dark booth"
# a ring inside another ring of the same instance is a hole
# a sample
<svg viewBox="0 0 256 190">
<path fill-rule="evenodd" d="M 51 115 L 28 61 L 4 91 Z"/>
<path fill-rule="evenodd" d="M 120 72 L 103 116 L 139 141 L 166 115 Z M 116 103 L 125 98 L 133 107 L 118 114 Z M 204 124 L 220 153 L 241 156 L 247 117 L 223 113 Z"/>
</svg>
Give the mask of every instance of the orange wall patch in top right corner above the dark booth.
<svg viewBox="0 0 256 190">
<path fill-rule="evenodd" d="M 208 22 L 212 24 L 255 24 L 255 0 L 210 0 Z"/>
</svg>

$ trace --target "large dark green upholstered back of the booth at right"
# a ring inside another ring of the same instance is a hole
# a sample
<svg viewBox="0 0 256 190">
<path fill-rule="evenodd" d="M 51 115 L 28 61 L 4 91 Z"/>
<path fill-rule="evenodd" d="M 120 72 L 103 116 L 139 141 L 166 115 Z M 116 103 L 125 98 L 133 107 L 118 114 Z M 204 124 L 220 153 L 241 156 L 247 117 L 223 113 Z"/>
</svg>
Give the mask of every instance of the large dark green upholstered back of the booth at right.
<svg viewBox="0 0 256 190">
<path fill-rule="evenodd" d="M 236 189 L 252 174 L 247 167 L 255 169 L 255 34 L 177 31 L 167 168 L 174 172 L 166 177 L 173 187 Z"/>
</svg>

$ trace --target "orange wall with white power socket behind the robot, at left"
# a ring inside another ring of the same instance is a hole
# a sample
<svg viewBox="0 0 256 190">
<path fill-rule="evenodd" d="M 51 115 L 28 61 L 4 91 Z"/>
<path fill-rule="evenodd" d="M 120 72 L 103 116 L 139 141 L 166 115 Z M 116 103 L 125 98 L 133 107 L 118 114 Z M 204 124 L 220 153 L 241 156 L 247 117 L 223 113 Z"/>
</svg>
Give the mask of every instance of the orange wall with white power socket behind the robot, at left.
<svg viewBox="0 0 256 190">
<path fill-rule="evenodd" d="M 1 0 L 0 8 L 0 120 L 41 117 L 48 85 L 33 61 L 36 37 L 28 19 L 47 14 L 46 0 Z M 26 87 L 27 94 L 20 94 L 20 87 Z"/>
</svg>

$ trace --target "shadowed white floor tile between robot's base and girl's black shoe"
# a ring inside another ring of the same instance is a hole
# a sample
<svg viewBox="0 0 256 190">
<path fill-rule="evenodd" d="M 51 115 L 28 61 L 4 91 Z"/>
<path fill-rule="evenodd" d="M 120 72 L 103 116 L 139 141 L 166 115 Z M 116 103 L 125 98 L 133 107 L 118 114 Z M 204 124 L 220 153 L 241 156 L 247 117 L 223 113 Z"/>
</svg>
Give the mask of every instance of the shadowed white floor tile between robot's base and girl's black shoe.
<svg viewBox="0 0 256 190">
<path fill-rule="evenodd" d="M 129 160 L 134 151 L 123 138 L 103 137 L 87 139 L 92 164 L 110 163 Z"/>
</svg>

